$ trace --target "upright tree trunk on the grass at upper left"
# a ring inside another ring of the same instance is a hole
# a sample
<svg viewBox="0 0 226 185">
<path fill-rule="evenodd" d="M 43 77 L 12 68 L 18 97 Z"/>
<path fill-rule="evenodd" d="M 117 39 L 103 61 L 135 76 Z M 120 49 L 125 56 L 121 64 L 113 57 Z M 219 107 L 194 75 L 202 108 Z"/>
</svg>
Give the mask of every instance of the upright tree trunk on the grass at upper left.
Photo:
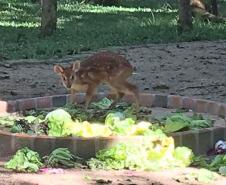
<svg viewBox="0 0 226 185">
<path fill-rule="evenodd" d="M 49 36 L 57 26 L 57 0 L 41 0 L 41 35 Z"/>
</svg>

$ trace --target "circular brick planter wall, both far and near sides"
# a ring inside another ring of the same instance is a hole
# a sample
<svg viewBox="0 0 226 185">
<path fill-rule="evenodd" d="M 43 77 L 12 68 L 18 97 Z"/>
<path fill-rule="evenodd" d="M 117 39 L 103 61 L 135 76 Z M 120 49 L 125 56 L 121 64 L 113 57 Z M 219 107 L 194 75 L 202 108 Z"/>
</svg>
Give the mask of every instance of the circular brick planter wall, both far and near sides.
<svg viewBox="0 0 226 185">
<path fill-rule="evenodd" d="M 20 99 L 15 101 L 0 101 L 0 113 L 17 112 L 27 109 L 43 109 L 51 107 L 60 107 L 70 100 L 70 95 L 57 95 L 38 98 Z M 103 98 L 105 94 L 96 95 L 96 99 Z M 124 98 L 131 101 L 131 96 Z M 78 94 L 76 101 L 84 100 L 84 94 Z M 160 94 L 141 94 L 140 104 L 147 107 L 162 108 L 187 108 L 198 113 L 207 113 L 222 118 L 226 117 L 226 104 L 192 99 L 174 95 Z M 212 128 L 200 129 L 195 131 L 185 131 L 170 134 L 174 138 L 176 146 L 190 147 L 195 154 L 205 154 L 209 148 L 212 148 L 218 140 L 226 139 L 226 123 Z M 0 158 L 13 155 L 19 148 L 29 147 L 42 156 L 49 154 L 54 148 L 67 147 L 74 154 L 88 159 L 95 156 L 95 153 L 103 148 L 109 147 L 119 142 L 140 142 L 144 139 L 142 136 L 131 137 L 49 137 L 49 136 L 30 136 L 27 134 L 13 134 L 0 131 Z"/>
</svg>

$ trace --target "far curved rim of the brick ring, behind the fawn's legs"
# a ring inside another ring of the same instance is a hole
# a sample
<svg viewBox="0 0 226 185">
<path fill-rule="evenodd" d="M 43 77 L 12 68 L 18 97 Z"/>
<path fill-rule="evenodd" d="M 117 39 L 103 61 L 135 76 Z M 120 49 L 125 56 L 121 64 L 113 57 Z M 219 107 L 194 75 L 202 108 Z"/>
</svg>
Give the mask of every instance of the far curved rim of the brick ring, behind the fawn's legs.
<svg viewBox="0 0 226 185">
<path fill-rule="evenodd" d="M 105 93 L 97 94 L 95 99 L 100 99 L 105 95 Z M 84 93 L 77 94 L 75 99 L 77 102 L 84 101 Z M 132 102 L 133 97 L 128 95 L 124 97 L 124 100 Z M 0 113 L 59 107 L 69 101 L 69 94 L 18 99 L 14 101 L 0 101 Z M 208 113 L 223 118 L 226 117 L 226 104 L 190 97 L 143 93 L 140 95 L 140 104 L 149 107 L 186 108 L 198 113 Z"/>
</svg>

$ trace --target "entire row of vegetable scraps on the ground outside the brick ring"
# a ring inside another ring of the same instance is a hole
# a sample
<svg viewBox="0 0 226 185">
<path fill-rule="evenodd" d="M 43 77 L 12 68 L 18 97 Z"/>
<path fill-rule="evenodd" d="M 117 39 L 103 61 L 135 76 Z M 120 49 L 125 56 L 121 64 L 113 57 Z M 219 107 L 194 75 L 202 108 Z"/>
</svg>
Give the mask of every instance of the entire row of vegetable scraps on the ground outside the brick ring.
<svg viewBox="0 0 226 185">
<path fill-rule="evenodd" d="M 216 172 L 226 175 L 226 155 L 218 155 L 213 160 L 194 156 L 187 147 L 174 148 L 173 139 L 161 131 L 154 131 L 141 144 L 120 143 L 109 149 L 100 150 L 95 158 L 84 161 L 73 155 L 67 148 L 56 148 L 48 156 L 25 147 L 16 152 L 4 167 L 16 172 L 62 173 L 62 168 L 91 169 L 131 169 L 157 171 L 189 165 L 201 167 L 197 171 L 186 172 L 174 179 L 180 183 L 212 183 Z"/>
</svg>

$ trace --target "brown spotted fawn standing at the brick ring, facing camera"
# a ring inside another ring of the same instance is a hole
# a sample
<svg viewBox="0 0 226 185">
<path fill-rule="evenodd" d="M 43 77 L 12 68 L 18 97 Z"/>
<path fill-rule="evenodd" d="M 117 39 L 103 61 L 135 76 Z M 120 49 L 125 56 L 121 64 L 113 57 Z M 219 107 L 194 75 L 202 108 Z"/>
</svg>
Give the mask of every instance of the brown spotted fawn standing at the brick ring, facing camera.
<svg viewBox="0 0 226 185">
<path fill-rule="evenodd" d="M 99 52 L 83 61 L 75 61 L 69 67 L 55 65 L 54 71 L 61 76 L 63 85 L 71 91 L 74 102 L 76 92 L 85 91 L 85 110 L 87 110 L 97 87 L 107 84 L 115 95 L 115 105 L 126 93 L 134 95 L 136 109 L 139 108 L 139 92 L 135 85 L 127 82 L 133 67 L 126 58 L 112 52 Z"/>
</svg>

